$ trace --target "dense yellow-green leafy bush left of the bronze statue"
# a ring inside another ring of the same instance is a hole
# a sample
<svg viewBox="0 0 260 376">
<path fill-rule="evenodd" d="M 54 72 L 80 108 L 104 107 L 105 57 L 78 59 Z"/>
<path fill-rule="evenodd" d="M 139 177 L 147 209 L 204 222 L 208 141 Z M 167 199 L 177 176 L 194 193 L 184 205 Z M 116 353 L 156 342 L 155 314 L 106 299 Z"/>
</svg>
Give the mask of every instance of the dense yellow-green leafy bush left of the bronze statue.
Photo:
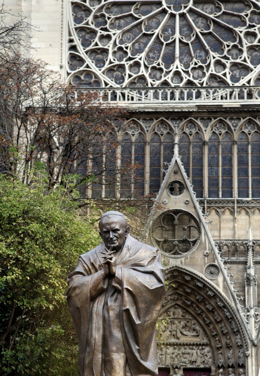
<svg viewBox="0 0 260 376">
<path fill-rule="evenodd" d="M 30 186 L 0 176 L 0 375 L 76 376 L 66 279 L 98 233 L 70 179 L 49 190 L 36 168 Z"/>
</svg>

